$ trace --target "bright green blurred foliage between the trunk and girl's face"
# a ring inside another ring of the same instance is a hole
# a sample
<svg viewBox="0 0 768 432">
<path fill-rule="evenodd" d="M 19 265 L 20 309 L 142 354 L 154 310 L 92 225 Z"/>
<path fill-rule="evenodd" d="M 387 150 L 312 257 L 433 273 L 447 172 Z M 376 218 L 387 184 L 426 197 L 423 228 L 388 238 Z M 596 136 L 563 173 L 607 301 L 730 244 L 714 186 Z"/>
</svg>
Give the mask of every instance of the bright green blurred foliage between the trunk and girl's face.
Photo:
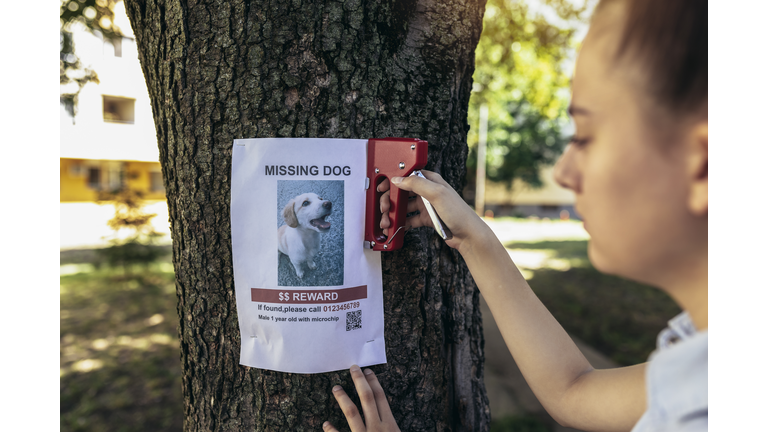
<svg viewBox="0 0 768 432">
<path fill-rule="evenodd" d="M 549 8 L 557 18 L 534 14 L 533 4 Z M 554 163 L 566 142 L 561 131 L 568 122 L 569 77 L 562 63 L 575 32 L 568 23 L 584 20 L 586 8 L 587 2 L 577 8 L 567 0 L 488 1 L 469 107 L 471 183 L 477 170 L 478 112 L 487 104 L 488 179 L 509 187 L 516 178 L 541 185 L 540 167 Z"/>
</svg>

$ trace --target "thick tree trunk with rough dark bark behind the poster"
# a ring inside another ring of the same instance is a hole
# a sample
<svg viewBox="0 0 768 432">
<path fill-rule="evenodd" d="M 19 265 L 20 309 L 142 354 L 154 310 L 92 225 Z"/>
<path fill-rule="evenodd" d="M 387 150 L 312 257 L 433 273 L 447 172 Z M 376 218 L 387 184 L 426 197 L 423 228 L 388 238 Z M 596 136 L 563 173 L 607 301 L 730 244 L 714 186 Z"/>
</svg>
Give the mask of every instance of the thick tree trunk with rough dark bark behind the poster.
<svg viewBox="0 0 768 432">
<path fill-rule="evenodd" d="M 168 197 L 185 429 L 346 424 L 331 388 L 354 393 L 347 371 L 238 364 L 233 139 L 419 137 L 428 169 L 461 190 L 484 1 L 126 3 Z M 382 266 L 389 363 L 373 369 L 402 429 L 487 430 L 479 293 L 463 260 L 420 229 Z"/>
</svg>

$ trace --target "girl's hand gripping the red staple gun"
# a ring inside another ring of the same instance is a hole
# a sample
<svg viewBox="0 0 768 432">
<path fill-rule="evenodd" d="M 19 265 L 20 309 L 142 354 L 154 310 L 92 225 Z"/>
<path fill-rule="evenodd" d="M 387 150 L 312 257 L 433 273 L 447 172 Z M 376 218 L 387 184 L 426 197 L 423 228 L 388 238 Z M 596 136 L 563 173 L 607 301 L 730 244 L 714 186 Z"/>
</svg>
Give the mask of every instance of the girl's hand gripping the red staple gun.
<svg viewBox="0 0 768 432">
<path fill-rule="evenodd" d="M 447 240 L 446 244 L 462 252 L 469 240 L 488 230 L 488 225 L 475 214 L 474 210 L 443 180 L 440 174 L 427 170 L 421 170 L 421 172 L 426 179 L 418 176 L 392 177 L 391 179 L 397 187 L 412 192 L 416 197 L 408 201 L 407 211 L 411 213 L 418 210 L 419 213 L 407 219 L 406 228 L 434 227 L 424 202 L 418 199 L 419 196 L 423 196 L 432 204 L 440 219 L 453 233 L 453 238 Z M 388 215 L 389 189 L 390 183 L 387 180 L 381 182 L 377 188 L 379 192 L 385 192 L 381 197 L 381 228 L 384 228 L 386 235 L 389 235 L 388 228 L 391 224 Z"/>
</svg>

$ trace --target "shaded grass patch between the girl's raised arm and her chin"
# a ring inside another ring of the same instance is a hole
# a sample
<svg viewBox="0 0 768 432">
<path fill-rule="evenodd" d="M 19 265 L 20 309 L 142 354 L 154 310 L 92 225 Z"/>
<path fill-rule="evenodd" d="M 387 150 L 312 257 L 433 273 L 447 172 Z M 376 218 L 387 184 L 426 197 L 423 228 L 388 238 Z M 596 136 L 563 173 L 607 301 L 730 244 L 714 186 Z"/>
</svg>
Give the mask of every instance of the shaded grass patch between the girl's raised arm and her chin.
<svg viewBox="0 0 768 432">
<path fill-rule="evenodd" d="M 514 242 L 513 250 L 543 250 L 567 260 L 565 271 L 529 269 L 531 288 L 569 333 L 621 365 L 642 363 L 656 348 L 656 336 L 680 313 L 656 288 L 597 271 L 586 240 Z"/>
</svg>

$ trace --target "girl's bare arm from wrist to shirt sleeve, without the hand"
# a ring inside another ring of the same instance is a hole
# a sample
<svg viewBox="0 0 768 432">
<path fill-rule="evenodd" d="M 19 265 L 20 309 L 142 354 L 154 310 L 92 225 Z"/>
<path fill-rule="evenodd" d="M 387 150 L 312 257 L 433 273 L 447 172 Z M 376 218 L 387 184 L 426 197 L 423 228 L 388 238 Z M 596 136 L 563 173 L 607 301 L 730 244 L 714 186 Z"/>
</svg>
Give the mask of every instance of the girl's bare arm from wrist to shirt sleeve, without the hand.
<svg viewBox="0 0 768 432">
<path fill-rule="evenodd" d="M 591 430 L 599 430 L 599 425 L 610 425 L 606 430 L 625 429 L 625 425 L 631 428 L 645 409 L 642 371 L 610 376 L 604 374 L 606 371 L 594 371 L 490 229 L 478 227 L 475 234 L 472 240 L 462 242 L 459 251 L 509 351 L 542 405 L 561 424 Z M 617 377 L 626 383 L 615 380 Z M 617 390 L 623 396 L 616 394 L 614 398 Z M 625 405 L 627 400 L 630 402 Z M 618 412 L 606 406 L 613 403 L 622 404 L 614 407 Z"/>
</svg>

